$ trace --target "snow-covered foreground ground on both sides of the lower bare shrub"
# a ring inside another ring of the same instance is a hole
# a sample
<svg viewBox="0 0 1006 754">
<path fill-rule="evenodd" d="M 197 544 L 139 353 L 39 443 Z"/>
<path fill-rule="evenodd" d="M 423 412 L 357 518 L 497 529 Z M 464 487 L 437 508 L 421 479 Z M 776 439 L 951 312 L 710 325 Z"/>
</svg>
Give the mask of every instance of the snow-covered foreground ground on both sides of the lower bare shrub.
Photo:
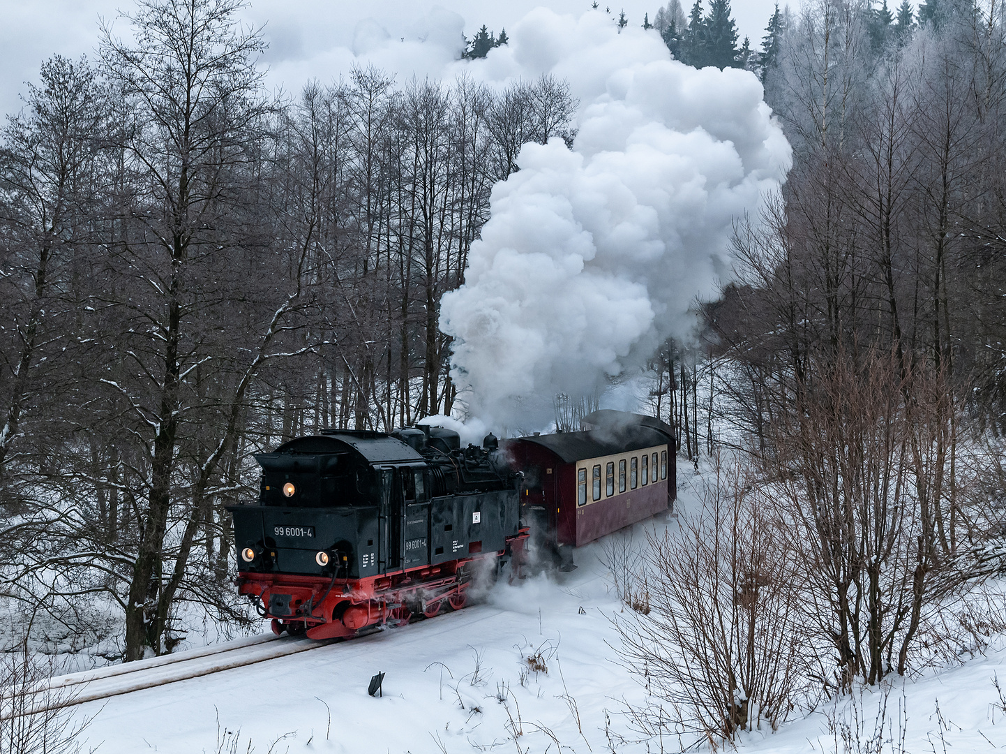
<svg viewBox="0 0 1006 754">
<path fill-rule="evenodd" d="M 641 741 L 624 715 L 627 704 L 645 701 L 645 692 L 617 661 L 610 617 L 622 606 L 602 556 L 598 545 L 583 548 L 576 571 L 499 584 L 485 604 L 457 613 L 83 705 L 78 715 L 94 716 L 88 745 L 100 744 L 104 754 L 243 753 L 249 746 L 277 754 L 659 752 L 661 741 Z M 538 671 L 528 662 L 535 654 Z M 998 675 L 1006 694 L 1004 662 L 999 649 L 940 673 L 895 681 L 881 738 L 900 747 L 903 729 L 908 752 L 1006 748 L 1006 701 L 993 684 Z M 367 685 L 378 671 L 386 673 L 384 694 L 371 698 Z M 851 738 L 863 751 L 876 737 L 884 696 L 857 698 Z M 839 708 L 852 720 L 848 699 Z M 740 748 L 834 751 L 837 737 L 843 751 L 841 726 L 829 709 L 776 734 L 745 735 Z M 679 749 L 664 739 L 664 751 Z"/>
</svg>

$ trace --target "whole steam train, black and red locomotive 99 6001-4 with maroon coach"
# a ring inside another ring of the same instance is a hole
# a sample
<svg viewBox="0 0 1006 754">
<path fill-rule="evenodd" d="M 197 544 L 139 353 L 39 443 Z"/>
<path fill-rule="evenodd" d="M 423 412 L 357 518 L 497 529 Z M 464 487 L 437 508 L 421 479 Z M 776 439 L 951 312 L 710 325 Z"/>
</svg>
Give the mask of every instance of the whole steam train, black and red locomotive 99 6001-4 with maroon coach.
<svg viewBox="0 0 1006 754">
<path fill-rule="evenodd" d="M 232 505 L 238 591 L 274 632 L 350 637 L 464 607 L 480 580 L 572 548 L 674 502 L 674 437 L 622 412 L 581 432 L 462 447 L 416 427 L 300 437 L 256 460 L 259 500 Z M 616 471 L 617 469 L 617 471 Z"/>
</svg>

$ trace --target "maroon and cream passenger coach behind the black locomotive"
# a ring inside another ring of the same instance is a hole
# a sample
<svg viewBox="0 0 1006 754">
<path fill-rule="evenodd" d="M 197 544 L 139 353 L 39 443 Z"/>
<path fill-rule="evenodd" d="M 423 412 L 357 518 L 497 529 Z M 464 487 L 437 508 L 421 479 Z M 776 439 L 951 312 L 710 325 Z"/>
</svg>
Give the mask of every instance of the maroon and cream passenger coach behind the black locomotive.
<svg viewBox="0 0 1006 754">
<path fill-rule="evenodd" d="M 674 430 L 639 414 L 602 410 L 581 432 L 506 441 L 524 473 L 521 518 L 554 543 L 563 567 L 570 548 L 671 510 L 676 496 Z M 533 535 L 532 535 L 533 537 Z"/>
</svg>

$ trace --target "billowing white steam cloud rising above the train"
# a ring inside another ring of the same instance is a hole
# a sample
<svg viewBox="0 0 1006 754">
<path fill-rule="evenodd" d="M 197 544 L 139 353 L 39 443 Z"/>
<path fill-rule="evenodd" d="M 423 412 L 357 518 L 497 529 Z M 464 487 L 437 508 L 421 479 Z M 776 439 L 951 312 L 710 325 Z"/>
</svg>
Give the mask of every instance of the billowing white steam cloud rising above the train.
<svg viewBox="0 0 1006 754">
<path fill-rule="evenodd" d="M 655 32 L 601 13 L 539 8 L 474 67 L 549 72 L 580 100 L 572 150 L 527 144 L 493 188 L 466 283 L 441 304 L 470 413 L 543 428 L 555 394 L 590 395 L 688 335 L 695 298 L 730 275 L 734 218 L 757 216 L 791 150 L 752 73 L 673 61 Z"/>
</svg>

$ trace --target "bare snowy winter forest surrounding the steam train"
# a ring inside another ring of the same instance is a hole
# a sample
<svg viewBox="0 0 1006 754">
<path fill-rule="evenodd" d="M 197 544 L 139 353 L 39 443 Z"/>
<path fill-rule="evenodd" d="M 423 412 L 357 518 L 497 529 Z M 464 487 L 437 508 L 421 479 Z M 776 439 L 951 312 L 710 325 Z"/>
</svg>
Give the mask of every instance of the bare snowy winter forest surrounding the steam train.
<svg viewBox="0 0 1006 754">
<path fill-rule="evenodd" d="M 576 137 L 580 103 L 551 76 L 369 66 L 276 96 L 241 5 L 138 2 L 131 37 L 104 26 L 94 59 L 49 58 L 3 127 L 9 644 L 134 660 L 193 621 L 248 625 L 225 506 L 257 495 L 252 454 L 464 419 L 441 297 L 521 146 Z M 1006 18 L 809 0 L 752 41 L 728 0 L 654 11 L 612 23 L 751 71 L 793 148 L 781 193 L 735 218 L 732 279 L 694 302 L 694 336 L 611 378 L 645 386 L 679 464 L 713 469 L 682 524 L 693 547 L 651 543 L 659 582 L 610 553 L 627 604 L 645 594 L 622 651 L 680 725 L 729 738 L 812 684 L 878 683 L 1006 631 L 1002 605 L 966 596 L 1004 558 Z M 506 44 L 483 26 L 463 54 Z M 509 429 L 577 429 L 599 400 L 556 396 L 551 427 Z M 699 603 L 732 616 L 721 633 L 697 633 L 712 613 L 682 606 Z M 712 671 L 734 660 L 746 675 Z"/>
</svg>

